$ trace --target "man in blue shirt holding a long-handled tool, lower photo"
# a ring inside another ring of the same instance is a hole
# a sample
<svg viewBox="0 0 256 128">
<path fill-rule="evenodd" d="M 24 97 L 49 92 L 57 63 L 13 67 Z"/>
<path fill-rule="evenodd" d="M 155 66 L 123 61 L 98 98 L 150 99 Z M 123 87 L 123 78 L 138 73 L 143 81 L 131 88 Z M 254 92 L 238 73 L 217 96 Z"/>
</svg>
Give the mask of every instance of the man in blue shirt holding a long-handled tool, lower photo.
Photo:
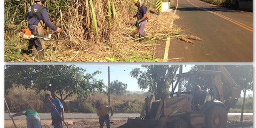
<svg viewBox="0 0 256 128">
<path fill-rule="evenodd" d="M 49 112 L 51 112 L 52 125 L 54 126 L 54 128 L 62 127 L 61 121 L 62 120 L 64 121 L 64 108 L 62 106 L 62 103 L 60 102 L 60 100 L 52 98 L 50 94 L 45 94 L 45 99 L 47 101 L 51 100 L 49 101 L 48 109 L 49 109 Z M 59 114 L 57 113 L 55 108 L 58 110 Z"/>
</svg>

